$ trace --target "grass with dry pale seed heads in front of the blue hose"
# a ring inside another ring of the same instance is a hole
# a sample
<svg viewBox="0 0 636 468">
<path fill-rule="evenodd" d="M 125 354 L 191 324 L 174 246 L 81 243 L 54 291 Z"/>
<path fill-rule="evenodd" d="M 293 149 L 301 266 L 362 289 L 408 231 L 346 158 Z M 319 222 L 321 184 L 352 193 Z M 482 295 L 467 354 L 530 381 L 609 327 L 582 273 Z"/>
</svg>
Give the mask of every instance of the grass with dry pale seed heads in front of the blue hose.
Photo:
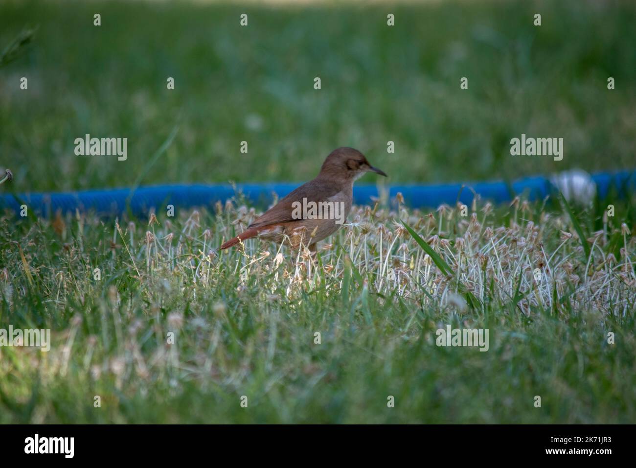
<svg viewBox="0 0 636 468">
<path fill-rule="evenodd" d="M 0 323 L 53 344 L 0 348 L 0 422 L 633 422 L 636 238 L 579 212 L 588 261 L 558 206 L 478 208 L 401 208 L 448 276 L 383 208 L 316 263 L 254 239 L 216 253 L 254 217 L 232 203 L 119 231 L 5 217 Z M 488 351 L 436 346 L 447 324 L 488 329 Z"/>
</svg>

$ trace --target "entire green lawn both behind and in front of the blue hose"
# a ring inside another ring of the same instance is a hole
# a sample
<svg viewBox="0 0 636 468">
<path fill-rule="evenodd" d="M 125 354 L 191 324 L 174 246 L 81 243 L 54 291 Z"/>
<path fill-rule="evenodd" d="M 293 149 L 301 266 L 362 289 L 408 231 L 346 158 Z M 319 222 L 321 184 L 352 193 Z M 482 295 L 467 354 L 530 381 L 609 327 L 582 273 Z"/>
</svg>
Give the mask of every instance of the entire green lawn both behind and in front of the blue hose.
<svg viewBox="0 0 636 468">
<path fill-rule="evenodd" d="M 0 68 L 0 192 L 305 181 L 344 145 L 388 183 L 633 168 L 635 20 L 628 2 L 3 2 L 0 50 L 37 30 Z M 128 138 L 127 160 L 76 156 L 86 133 Z M 565 157 L 511 156 L 523 133 Z M 0 347 L 0 423 L 633 423 L 635 202 L 396 199 L 355 207 L 315 261 L 219 253 L 265 208 L 240 194 L 3 213 L 0 329 L 52 345 Z M 438 346 L 448 325 L 488 329 L 488 350 Z"/>
</svg>

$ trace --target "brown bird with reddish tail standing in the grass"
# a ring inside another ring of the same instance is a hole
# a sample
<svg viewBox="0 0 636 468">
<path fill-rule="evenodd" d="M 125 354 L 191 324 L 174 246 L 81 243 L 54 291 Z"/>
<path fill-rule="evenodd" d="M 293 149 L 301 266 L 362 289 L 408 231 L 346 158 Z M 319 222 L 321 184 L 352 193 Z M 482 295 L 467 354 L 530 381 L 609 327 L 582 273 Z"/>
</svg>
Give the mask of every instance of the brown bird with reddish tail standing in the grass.
<svg viewBox="0 0 636 468">
<path fill-rule="evenodd" d="M 340 228 L 351 209 L 354 180 L 364 173 L 387 176 L 371 166 L 354 148 L 338 148 L 324 160 L 320 174 L 281 199 L 230 239 L 221 250 L 255 236 L 275 242 L 289 239 L 293 248 L 301 244 L 315 251 L 318 241 Z"/>
</svg>

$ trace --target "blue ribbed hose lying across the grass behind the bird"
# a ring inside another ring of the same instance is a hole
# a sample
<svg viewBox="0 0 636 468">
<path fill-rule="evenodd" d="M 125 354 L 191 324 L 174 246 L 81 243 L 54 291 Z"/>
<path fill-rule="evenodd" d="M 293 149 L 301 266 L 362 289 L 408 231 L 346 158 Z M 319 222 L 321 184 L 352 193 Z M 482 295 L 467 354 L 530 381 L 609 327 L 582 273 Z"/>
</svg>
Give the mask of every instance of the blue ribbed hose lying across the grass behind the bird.
<svg viewBox="0 0 636 468">
<path fill-rule="evenodd" d="M 612 187 L 618 197 L 636 191 L 636 172 L 621 171 L 618 173 L 597 173 L 592 176 L 596 183 L 597 194 L 603 199 Z M 165 208 L 168 204 L 175 208 L 191 208 L 193 206 L 213 206 L 217 201 L 225 202 L 242 192 L 253 204 L 265 204 L 271 201 L 272 193 L 284 197 L 297 183 L 242 184 L 236 190 L 231 185 L 159 185 L 155 187 L 139 187 L 134 192 L 130 188 L 114 188 L 105 190 L 83 190 L 73 193 L 0 195 L 0 209 L 10 209 L 16 214 L 20 206 L 26 204 L 31 212 L 38 216 L 48 217 L 61 210 L 62 213 L 94 210 L 98 215 L 115 216 L 128 211 L 135 216 L 148 215 L 149 209 Z M 482 199 L 496 203 L 511 201 L 517 195 L 525 193 L 531 200 L 543 199 L 554 192 L 550 180 L 543 176 L 535 176 L 516 180 L 513 183 L 504 181 L 476 182 L 469 184 L 441 185 L 395 185 L 389 188 L 389 197 L 401 192 L 404 203 L 413 208 L 437 208 L 440 204 L 455 204 L 459 201 L 471 204 L 474 193 Z M 361 185 L 354 187 L 354 203 L 370 204 L 371 197 L 378 197 L 378 187 Z M 128 200 L 129 199 L 129 200 Z"/>
</svg>

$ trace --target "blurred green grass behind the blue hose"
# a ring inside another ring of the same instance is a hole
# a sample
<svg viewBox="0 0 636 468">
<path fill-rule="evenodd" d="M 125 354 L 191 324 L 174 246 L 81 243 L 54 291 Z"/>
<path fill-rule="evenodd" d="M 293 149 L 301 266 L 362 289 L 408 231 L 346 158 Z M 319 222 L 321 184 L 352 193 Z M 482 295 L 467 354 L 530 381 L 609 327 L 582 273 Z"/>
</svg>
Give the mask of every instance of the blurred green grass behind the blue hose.
<svg viewBox="0 0 636 468">
<path fill-rule="evenodd" d="M 634 24 L 633 1 L 3 0 L 0 50 L 36 33 L 0 68 L 0 167 L 19 192 L 305 181 L 337 146 L 388 183 L 632 168 Z M 76 156 L 86 133 L 128 159 Z M 563 138 L 563 160 L 511 156 L 522 133 Z"/>
</svg>

